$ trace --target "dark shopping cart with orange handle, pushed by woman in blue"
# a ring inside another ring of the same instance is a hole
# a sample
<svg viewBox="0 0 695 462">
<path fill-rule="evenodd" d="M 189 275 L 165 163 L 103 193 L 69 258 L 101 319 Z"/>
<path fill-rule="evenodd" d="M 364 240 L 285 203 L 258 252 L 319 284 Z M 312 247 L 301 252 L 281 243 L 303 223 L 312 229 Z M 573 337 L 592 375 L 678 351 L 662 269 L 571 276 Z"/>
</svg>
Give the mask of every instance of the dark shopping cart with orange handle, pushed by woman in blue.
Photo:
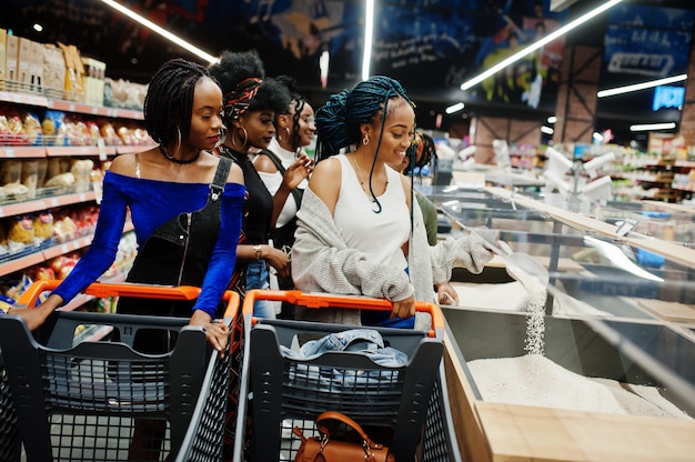
<svg viewBox="0 0 695 462">
<path fill-rule="evenodd" d="M 34 307 L 39 295 L 59 282 L 34 283 L 19 304 Z M 95 298 L 194 300 L 200 290 L 93 283 L 84 293 Z M 223 322 L 231 325 L 240 314 L 239 295 L 228 291 L 224 301 Z M 155 428 L 162 433 L 154 438 L 161 448 L 153 446 L 143 459 L 154 455 L 165 460 L 168 454 L 178 454 L 201 390 L 225 399 L 228 384 L 219 383 L 213 390 L 210 380 L 230 375 L 230 352 L 221 360 L 207 342 L 204 330 L 188 322 L 185 318 L 56 311 L 40 329 L 30 332 L 18 315 L 0 318 L 0 348 L 26 459 L 129 460 L 139 421 L 159 422 Z M 119 341 L 77 343 L 75 331 L 83 325 L 118 332 Z M 167 332 L 178 339 L 167 353 L 144 354 L 132 348 L 139 332 Z M 216 422 L 216 441 L 208 448 L 218 454 L 222 451 L 223 413 L 224 409 Z"/>
</svg>

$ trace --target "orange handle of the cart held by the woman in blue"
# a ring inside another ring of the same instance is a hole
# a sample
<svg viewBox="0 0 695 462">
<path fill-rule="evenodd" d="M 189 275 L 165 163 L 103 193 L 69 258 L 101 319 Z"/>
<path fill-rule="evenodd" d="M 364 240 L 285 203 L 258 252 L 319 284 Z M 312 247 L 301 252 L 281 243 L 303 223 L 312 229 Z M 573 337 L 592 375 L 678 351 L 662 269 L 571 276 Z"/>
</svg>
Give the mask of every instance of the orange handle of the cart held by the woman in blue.
<svg viewBox="0 0 695 462">
<path fill-rule="evenodd" d="M 18 305 L 34 308 L 41 293 L 56 289 L 61 282 L 52 279 L 36 281 L 19 298 Z M 137 297 L 140 299 L 195 300 L 200 295 L 200 288 L 193 285 L 151 285 L 132 282 L 93 282 L 82 293 L 100 299 L 105 297 Z M 239 294 L 228 290 L 224 292 L 222 300 L 226 301 L 224 317 L 233 317 L 240 303 Z"/>
</svg>

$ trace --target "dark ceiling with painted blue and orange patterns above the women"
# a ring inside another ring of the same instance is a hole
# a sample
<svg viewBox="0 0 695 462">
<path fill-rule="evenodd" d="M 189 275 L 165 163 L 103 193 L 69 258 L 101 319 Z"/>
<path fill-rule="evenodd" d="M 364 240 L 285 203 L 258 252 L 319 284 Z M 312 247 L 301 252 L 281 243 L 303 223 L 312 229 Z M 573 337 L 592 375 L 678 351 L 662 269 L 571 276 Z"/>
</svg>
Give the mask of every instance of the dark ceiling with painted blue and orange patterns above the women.
<svg viewBox="0 0 695 462">
<path fill-rule="evenodd" d="M 443 112 L 443 108 L 464 97 L 475 106 L 476 98 L 482 100 L 483 89 L 462 94 L 459 86 L 486 66 L 485 47 L 506 43 L 501 40 L 513 33 L 530 39 L 531 20 L 541 17 L 546 26 L 557 28 L 603 0 L 577 0 L 560 13 L 550 11 L 550 2 L 376 0 L 372 73 L 387 73 L 403 82 L 422 112 L 419 122 L 434 121 L 431 114 Z M 183 56 L 200 60 L 98 0 L 4 3 L 0 28 L 39 42 L 75 44 L 83 56 L 104 61 L 107 76 L 113 79 L 145 83 L 169 58 Z M 223 50 L 256 49 L 269 76 L 294 76 L 318 103 L 360 79 L 364 0 L 121 0 L 121 3 L 213 56 Z M 543 7 L 540 16 L 536 3 Z M 623 4 L 628 3 L 695 9 L 694 0 L 625 0 Z M 571 32 L 565 42 L 601 46 L 604 20 L 594 19 Z M 43 26 L 42 32 L 32 28 L 37 22 Z M 502 32 L 506 36 L 502 37 Z M 328 84 L 322 88 L 319 57 L 325 50 L 331 53 L 331 64 Z M 552 98 L 544 98 L 532 110 L 505 100 L 495 103 L 488 96 L 481 108 L 533 118 L 553 112 L 553 103 Z"/>
</svg>

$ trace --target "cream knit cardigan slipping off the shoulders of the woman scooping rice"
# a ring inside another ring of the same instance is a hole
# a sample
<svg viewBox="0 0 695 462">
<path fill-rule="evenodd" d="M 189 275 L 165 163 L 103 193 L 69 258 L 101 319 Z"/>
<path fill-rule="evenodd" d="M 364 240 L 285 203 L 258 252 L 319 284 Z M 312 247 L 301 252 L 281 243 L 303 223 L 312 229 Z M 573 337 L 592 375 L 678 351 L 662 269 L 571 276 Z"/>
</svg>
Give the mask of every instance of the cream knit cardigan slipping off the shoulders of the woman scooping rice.
<svg viewBox="0 0 695 462">
<path fill-rule="evenodd" d="M 427 235 L 417 201 L 413 201 L 413 233 L 409 251 L 409 274 L 397 268 L 373 263 L 360 250 L 348 248 L 333 217 L 323 201 L 310 189 L 304 190 L 292 247 L 292 279 L 304 292 L 328 292 L 366 295 L 400 301 L 414 294 L 415 300 L 436 302 L 434 283 L 451 279 L 454 268 L 474 274 L 493 253 L 477 235 L 427 243 Z M 298 318 L 359 325 L 355 310 L 298 310 Z"/>
</svg>

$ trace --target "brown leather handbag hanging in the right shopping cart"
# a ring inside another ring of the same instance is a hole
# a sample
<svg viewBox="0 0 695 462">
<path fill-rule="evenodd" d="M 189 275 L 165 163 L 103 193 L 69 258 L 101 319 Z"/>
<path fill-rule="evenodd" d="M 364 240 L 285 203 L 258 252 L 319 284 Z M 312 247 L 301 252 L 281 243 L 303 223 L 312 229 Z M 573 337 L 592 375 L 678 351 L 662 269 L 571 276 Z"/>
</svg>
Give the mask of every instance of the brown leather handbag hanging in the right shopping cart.
<svg viewBox="0 0 695 462">
<path fill-rule="evenodd" d="M 328 420 L 336 420 L 353 429 L 362 438 L 362 444 L 331 440 Z M 374 443 L 354 420 L 335 411 L 328 411 L 316 418 L 316 428 L 320 436 L 306 438 L 295 426 L 294 434 L 302 439 L 294 462 L 395 462 L 389 448 Z"/>
</svg>

